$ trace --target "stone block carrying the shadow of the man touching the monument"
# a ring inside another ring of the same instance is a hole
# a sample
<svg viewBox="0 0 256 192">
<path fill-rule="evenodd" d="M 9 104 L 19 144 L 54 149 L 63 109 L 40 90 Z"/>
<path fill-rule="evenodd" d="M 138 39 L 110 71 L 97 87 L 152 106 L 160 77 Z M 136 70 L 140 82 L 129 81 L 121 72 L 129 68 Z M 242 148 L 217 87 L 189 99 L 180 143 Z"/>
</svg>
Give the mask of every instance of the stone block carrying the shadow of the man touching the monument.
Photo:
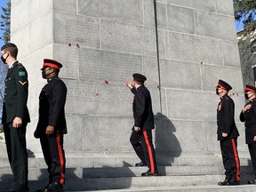
<svg viewBox="0 0 256 192">
<path fill-rule="evenodd" d="M 185 131 L 186 130 L 186 131 Z M 177 121 L 166 119 L 156 120 L 156 151 L 176 153 L 205 152 L 205 138 L 198 137 L 195 132 L 204 135 L 203 122 Z"/>
</svg>

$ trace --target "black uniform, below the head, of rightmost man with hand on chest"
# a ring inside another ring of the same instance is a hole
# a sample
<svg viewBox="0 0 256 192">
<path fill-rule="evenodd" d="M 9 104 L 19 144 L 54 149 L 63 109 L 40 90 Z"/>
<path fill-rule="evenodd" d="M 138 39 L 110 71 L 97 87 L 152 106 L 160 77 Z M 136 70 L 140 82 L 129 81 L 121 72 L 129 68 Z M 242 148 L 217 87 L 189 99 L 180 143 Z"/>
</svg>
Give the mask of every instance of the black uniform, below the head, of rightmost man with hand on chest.
<svg viewBox="0 0 256 192">
<path fill-rule="evenodd" d="M 256 99 L 250 100 L 245 106 L 249 104 L 251 104 L 252 107 L 247 109 L 244 113 L 241 111 L 240 121 L 244 122 L 245 125 L 245 141 L 246 144 L 248 144 L 256 179 L 256 142 L 253 141 L 254 136 L 256 136 Z"/>
</svg>

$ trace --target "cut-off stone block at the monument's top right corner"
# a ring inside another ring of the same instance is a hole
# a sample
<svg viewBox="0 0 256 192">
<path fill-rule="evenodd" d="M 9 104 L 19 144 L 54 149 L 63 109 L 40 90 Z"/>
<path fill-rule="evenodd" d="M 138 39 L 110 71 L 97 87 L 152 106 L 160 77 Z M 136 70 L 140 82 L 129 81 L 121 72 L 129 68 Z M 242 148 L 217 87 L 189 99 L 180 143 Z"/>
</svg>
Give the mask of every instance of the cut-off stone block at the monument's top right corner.
<svg viewBox="0 0 256 192">
<path fill-rule="evenodd" d="M 218 13 L 234 16 L 234 5 L 231 0 L 216 0 L 216 9 Z"/>
</svg>

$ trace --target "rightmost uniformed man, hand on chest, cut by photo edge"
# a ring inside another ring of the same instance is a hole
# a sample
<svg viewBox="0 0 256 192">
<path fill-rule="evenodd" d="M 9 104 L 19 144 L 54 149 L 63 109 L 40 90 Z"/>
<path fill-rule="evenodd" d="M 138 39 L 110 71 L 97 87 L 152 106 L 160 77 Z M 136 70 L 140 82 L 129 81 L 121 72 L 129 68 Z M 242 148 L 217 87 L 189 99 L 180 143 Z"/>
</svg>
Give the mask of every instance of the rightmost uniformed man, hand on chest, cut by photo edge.
<svg viewBox="0 0 256 192">
<path fill-rule="evenodd" d="M 254 180 L 249 180 L 248 184 L 256 184 L 256 88 L 246 85 L 244 97 L 249 102 L 241 111 L 240 120 L 245 125 L 245 141 L 248 144 L 254 173 Z"/>
</svg>

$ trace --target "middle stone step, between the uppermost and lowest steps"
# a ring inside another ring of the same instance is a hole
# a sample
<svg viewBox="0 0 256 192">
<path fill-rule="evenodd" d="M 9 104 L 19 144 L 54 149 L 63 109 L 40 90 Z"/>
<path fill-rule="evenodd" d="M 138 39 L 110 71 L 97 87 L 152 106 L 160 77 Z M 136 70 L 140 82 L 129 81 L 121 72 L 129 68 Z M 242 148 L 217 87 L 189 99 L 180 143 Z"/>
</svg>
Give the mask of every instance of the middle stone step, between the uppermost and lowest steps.
<svg viewBox="0 0 256 192">
<path fill-rule="evenodd" d="M 10 168 L 0 169 L 0 180 L 12 180 Z M 102 167 L 102 168 L 67 168 L 66 177 L 68 179 L 83 178 L 118 178 L 118 177 L 140 177 L 141 172 L 147 172 L 147 167 Z M 222 175 L 224 173 L 221 166 L 159 166 L 161 176 L 195 176 L 195 175 Z M 252 174 L 251 167 L 241 167 L 241 174 Z M 46 169 L 30 168 L 28 170 L 29 180 L 47 180 Z"/>
</svg>

